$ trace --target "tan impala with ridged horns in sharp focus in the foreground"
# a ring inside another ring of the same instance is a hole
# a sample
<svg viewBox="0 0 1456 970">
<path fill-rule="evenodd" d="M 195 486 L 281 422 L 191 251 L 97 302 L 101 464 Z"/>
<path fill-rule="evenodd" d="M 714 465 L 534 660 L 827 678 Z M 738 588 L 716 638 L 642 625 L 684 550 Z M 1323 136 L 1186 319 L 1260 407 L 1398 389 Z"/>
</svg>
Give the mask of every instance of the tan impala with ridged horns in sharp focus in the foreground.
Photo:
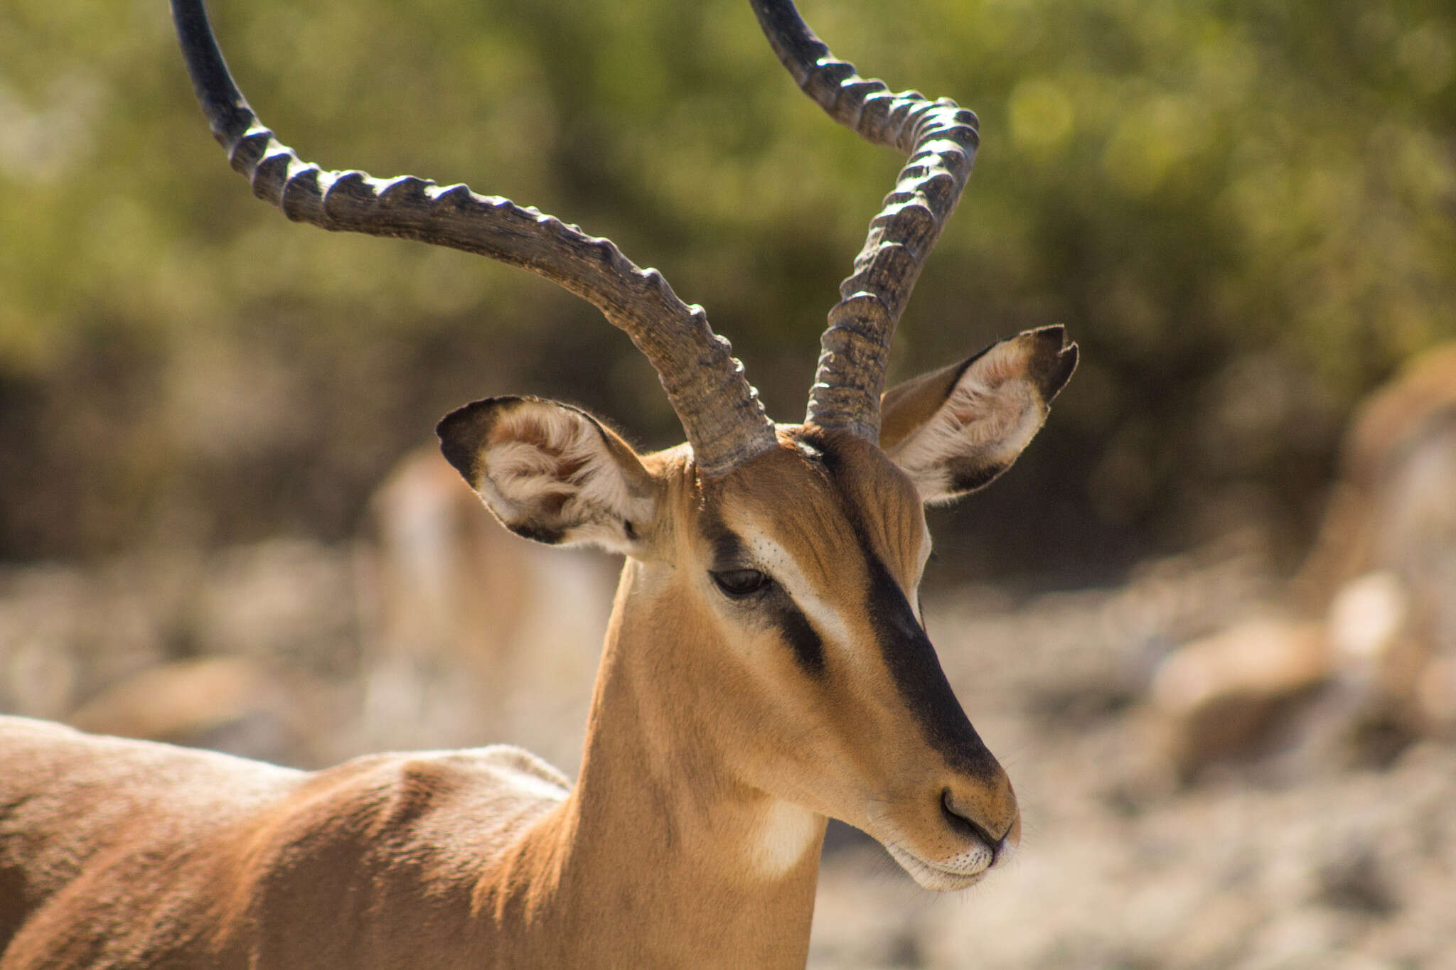
<svg viewBox="0 0 1456 970">
<path fill-rule="evenodd" d="M 256 195 L 590 300 L 657 368 L 687 444 L 642 455 L 529 397 L 438 426 L 507 528 L 626 556 L 575 785 L 504 746 L 304 774 L 10 720 L 0 969 L 802 966 L 826 817 L 935 890 L 1010 854 L 1010 782 L 922 625 L 923 506 L 1016 458 L 1076 346 L 1032 330 L 881 394 L 976 116 L 862 80 L 788 0 L 753 6 L 815 103 L 910 156 L 798 425 L 770 422 L 702 308 L 610 241 L 464 186 L 300 161 L 237 92 L 201 1 L 173 0 L 213 132 Z"/>
</svg>

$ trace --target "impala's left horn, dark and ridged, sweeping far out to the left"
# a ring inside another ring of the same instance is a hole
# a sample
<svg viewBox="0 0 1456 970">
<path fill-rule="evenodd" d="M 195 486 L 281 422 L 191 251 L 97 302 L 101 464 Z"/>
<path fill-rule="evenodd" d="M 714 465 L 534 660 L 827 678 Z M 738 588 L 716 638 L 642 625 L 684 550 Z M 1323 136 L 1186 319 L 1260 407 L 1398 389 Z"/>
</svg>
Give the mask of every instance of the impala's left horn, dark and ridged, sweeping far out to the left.
<svg viewBox="0 0 1456 970">
<path fill-rule="evenodd" d="M 728 340 L 660 272 L 639 269 L 612 240 L 501 196 L 414 176 L 328 172 L 300 160 L 237 90 L 202 0 L 172 0 L 172 19 L 213 137 L 253 195 L 322 228 L 414 239 L 523 266 L 588 300 L 657 369 L 705 476 L 721 476 L 775 445 L 773 423 Z"/>
</svg>

